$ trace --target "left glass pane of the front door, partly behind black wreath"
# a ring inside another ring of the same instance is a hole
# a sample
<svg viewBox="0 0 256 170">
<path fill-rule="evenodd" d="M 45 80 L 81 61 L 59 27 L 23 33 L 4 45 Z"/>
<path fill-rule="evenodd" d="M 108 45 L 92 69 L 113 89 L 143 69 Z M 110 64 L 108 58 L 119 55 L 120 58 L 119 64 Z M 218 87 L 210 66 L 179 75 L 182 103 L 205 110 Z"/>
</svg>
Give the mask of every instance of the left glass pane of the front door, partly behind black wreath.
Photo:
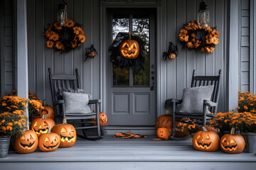
<svg viewBox="0 0 256 170">
<path fill-rule="evenodd" d="M 119 32 L 129 32 L 129 18 L 113 18 L 112 37 L 116 38 Z M 113 64 L 113 86 L 129 86 L 129 67 L 120 68 Z"/>
</svg>

